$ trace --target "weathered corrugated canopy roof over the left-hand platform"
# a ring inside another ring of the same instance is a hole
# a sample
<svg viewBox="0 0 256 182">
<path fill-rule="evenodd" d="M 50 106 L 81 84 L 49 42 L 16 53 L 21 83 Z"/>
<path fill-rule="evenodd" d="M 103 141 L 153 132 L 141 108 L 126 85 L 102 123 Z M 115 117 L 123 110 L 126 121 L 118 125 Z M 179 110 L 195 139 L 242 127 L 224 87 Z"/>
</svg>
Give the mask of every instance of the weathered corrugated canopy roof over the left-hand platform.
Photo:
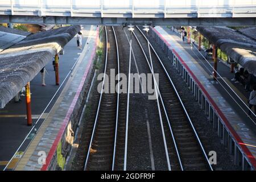
<svg viewBox="0 0 256 182">
<path fill-rule="evenodd" d="M 67 26 L 30 34 L 0 28 L 0 108 L 19 93 L 49 60 L 71 40 L 80 26 Z M 8 42 L 9 40 L 9 42 Z M 9 44 L 7 44 L 9 43 Z"/>
</svg>

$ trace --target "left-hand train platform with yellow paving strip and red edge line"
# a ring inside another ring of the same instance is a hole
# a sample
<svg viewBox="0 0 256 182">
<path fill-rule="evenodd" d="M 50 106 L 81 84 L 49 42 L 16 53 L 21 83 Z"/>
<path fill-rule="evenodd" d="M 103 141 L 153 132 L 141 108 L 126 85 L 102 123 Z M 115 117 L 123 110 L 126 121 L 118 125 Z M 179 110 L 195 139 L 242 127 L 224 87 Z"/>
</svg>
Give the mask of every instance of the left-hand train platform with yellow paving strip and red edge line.
<svg viewBox="0 0 256 182">
<path fill-rule="evenodd" d="M 40 170 L 56 167 L 56 163 L 63 165 L 61 148 L 72 143 L 76 123 L 71 121 L 77 117 L 73 111 L 84 100 L 81 93 L 92 68 L 98 28 L 84 26 L 82 33 L 82 50 L 77 48 L 75 37 L 64 47 L 64 55 L 59 55 L 60 86 L 53 81 L 51 61 L 46 65 L 47 86 L 41 86 L 40 73 L 31 81 L 32 119 L 36 123 L 32 130 L 26 125 L 24 99 L 18 104 L 11 101 L 0 110 L 0 169 Z M 55 158 L 56 163 L 51 163 Z"/>
</svg>

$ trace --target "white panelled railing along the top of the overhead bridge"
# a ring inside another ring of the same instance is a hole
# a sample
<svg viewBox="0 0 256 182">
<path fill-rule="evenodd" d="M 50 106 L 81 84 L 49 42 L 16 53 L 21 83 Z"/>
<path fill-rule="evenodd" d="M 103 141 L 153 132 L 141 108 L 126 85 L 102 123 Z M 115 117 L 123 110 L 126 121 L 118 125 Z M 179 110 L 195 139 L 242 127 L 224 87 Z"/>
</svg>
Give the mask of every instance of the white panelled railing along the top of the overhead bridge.
<svg viewBox="0 0 256 182">
<path fill-rule="evenodd" d="M 113 17 L 256 17 L 256 0 L 1 0 L 0 14 Z"/>
</svg>

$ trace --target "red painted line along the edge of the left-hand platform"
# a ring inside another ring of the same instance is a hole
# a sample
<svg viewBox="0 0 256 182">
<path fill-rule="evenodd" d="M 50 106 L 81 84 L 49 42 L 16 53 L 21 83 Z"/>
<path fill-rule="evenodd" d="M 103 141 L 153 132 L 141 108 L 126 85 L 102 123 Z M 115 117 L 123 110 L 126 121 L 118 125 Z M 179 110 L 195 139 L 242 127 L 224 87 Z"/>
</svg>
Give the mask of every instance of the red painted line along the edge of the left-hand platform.
<svg viewBox="0 0 256 182">
<path fill-rule="evenodd" d="M 97 27 L 97 34 L 96 34 L 96 38 L 98 37 L 98 34 L 99 34 L 99 27 Z M 92 65 L 92 60 L 93 60 L 93 57 L 95 56 L 95 53 L 96 53 L 96 47 L 97 47 L 97 41 L 95 42 L 94 44 L 94 47 L 93 47 L 93 53 L 92 55 L 90 56 L 90 59 L 88 61 L 88 64 L 86 66 L 86 69 L 85 69 L 85 73 L 84 75 L 82 76 L 82 80 L 80 82 L 80 85 L 79 85 L 79 88 L 77 89 L 77 92 L 76 92 L 76 95 L 75 97 L 73 98 L 73 101 L 68 109 L 68 113 L 67 115 L 65 116 L 64 118 L 64 121 L 63 121 L 63 124 L 61 125 L 60 127 L 60 130 L 57 134 L 57 137 L 55 138 L 53 144 L 52 144 L 52 147 L 51 149 L 49 150 L 49 153 L 47 155 L 47 158 L 46 158 L 46 164 L 44 164 L 41 168 L 41 171 L 46 171 L 49 167 L 49 164 L 53 158 L 53 155 L 55 154 L 55 151 L 56 151 L 56 148 L 57 148 L 57 144 L 60 142 L 60 139 L 61 137 L 63 136 L 63 133 L 65 131 L 65 128 L 67 127 L 67 124 L 69 122 L 69 118 L 71 117 L 71 114 L 73 113 L 73 110 L 75 108 L 75 105 L 76 105 L 76 102 L 79 98 L 79 95 L 81 93 L 81 90 L 82 90 L 82 86 L 84 85 L 84 82 L 86 80 L 86 77 L 88 76 L 88 72 L 89 72 L 89 69 L 90 69 L 90 66 Z"/>
</svg>

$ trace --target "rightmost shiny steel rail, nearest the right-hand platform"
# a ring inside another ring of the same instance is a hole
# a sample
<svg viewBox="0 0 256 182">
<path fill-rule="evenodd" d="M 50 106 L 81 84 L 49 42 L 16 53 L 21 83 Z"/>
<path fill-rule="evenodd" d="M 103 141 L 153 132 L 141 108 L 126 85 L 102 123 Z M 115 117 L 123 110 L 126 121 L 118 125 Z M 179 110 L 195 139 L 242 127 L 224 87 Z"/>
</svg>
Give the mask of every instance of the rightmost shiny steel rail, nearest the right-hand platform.
<svg viewBox="0 0 256 182">
<path fill-rule="evenodd" d="M 141 34 L 144 36 L 144 38 L 145 38 L 146 40 L 148 40 L 148 39 L 146 38 L 146 36 L 143 34 L 143 32 L 139 29 L 139 27 L 138 27 L 138 26 L 136 26 L 136 27 L 137 27 L 138 30 L 141 32 Z M 148 42 L 149 42 L 149 40 L 148 40 Z M 180 96 L 179 96 L 179 93 L 177 92 L 177 89 L 176 89 L 176 87 L 175 87 L 175 85 L 174 85 L 174 82 L 172 81 L 172 79 L 171 79 L 169 73 L 167 72 L 166 68 L 165 68 L 164 65 L 163 65 L 162 60 L 161 60 L 160 57 L 158 56 L 158 53 L 156 53 L 156 51 L 155 51 L 155 49 L 153 48 L 153 46 L 152 46 L 151 43 L 150 43 L 150 46 L 151 46 L 152 50 L 154 51 L 156 57 L 158 57 L 159 63 L 162 65 L 162 68 L 164 69 L 164 72 L 166 73 L 166 76 L 168 77 L 169 81 L 171 82 L 171 85 L 172 85 L 172 87 L 173 87 L 174 90 L 175 90 L 176 96 L 179 98 L 180 104 L 181 104 L 181 106 L 183 107 L 183 110 L 184 110 L 184 112 L 185 112 L 185 115 L 187 116 L 188 121 L 189 121 L 189 123 L 190 123 L 190 125 L 191 125 L 191 127 L 192 127 L 192 129 L 193 129 L 193 132 L 194 132 L 194 134 L 195 134 L 195 136 L 196 136 L 197 142 L 199 142 L 200 148 L 201 148 L 201 150 L 202 150 L 203 153 L 204 153 L 205 160 L 207 161 L 209 168 L 213 171 L 212 165 L 210 164 L 210 162 L 209 162 L 209 160 L 208 160 L 208 156 L 207 156 L 207 154 L 206 154 L 206 152 L 205 152 L 205 150 L 204 150 L 203 144 L 201 143 L 201 141 L 200 141 L 200 139 L 199 139 L 199 136 L 197 135 L 196 129 L 195 129 L 195 127 L 193 126 L 193 123 L 192 123 L 192 121 L 191 121 L 191 118 L 190 118 L 189 115 L 188 115 L 187 109 L 185 109 L 185 106 L 184 106 L 183 101 L 181 100 L 181 98 L 180 98 Z"/>
</svg>

